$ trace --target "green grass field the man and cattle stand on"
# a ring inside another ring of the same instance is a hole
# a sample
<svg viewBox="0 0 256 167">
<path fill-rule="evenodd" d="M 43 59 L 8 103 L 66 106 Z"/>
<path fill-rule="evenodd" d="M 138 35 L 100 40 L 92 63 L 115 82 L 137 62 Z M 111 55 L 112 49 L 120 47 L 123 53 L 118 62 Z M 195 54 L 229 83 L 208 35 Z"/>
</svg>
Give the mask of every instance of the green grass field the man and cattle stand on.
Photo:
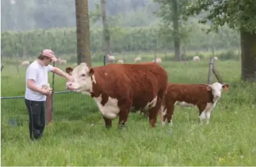
<svg viewBox="0 0 256 167">
<path fill-rule="evenodd" d="M 101 63 L 94 63 L 94 66 Z M 208 61 L 162 64 L 174 83 L 206 83 Z M 149 128 L 142 115 L 130 114 L 127 128 L 106 130 L 96 104 L 78 93 L 54 96 L 54 122 L 37 142 L 29 141 L 24 99 L 1 100 L 2 166 L 255 166 L 256 84 L 241 83 L 239 61 L 217 61 L 230 89 L 222 94 L 209 125 L 197 122 L 196 108 L 176 107 L 173 127 Z M 64 70 L 66 66 L 61 66 Z M 23 96 L 24 73 L 5 66 L 1 97 Z M 51 76 L 49 80 L 51 83 Z M 215 80 L 214 80 L 215 81 Z M 65 80 L 56 76 L 56 90 Z M 17 119 L 12 127 L 9 119 Z M 94 125 L 92 125 L 94 124 Z"/>
</svg>

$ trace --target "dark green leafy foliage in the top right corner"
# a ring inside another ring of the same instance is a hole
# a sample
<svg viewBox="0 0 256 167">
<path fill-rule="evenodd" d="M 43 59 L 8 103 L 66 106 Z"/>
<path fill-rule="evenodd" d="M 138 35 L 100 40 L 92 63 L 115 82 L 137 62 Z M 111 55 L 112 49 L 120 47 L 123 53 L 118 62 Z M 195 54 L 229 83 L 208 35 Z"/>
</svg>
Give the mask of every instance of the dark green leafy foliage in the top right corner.
<svg viewBox="0 0 256 167">
<path fill-rule="evenodd" d="M 212 25 L 209 31 L 218 31 L 219 26 L 227 24 L 232 29 L 256 32 L 255 0 L 193 0 L 184 8 L 185 19 L 187 16 L 207 12 L 200 22 L 210 20 Z"/>
</svg>

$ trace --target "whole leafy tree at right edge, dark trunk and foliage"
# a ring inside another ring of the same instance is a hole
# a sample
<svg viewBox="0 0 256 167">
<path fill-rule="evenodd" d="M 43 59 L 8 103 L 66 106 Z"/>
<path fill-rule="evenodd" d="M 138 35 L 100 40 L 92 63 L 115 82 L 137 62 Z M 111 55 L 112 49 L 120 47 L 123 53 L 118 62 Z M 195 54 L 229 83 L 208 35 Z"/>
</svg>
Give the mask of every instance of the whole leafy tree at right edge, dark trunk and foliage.
<svg viewBox="0 0 256 167">
<path fill-rule="evenodd" d="M 211 30 L 218 31 L 225 24 L 240 32 L 241 79 L 256 81 L 256 3 L 255 0 L 194 0 L 186 7 L 186 15 L 200 14 L 207 11 L 200 20 L 212 22 Z"/>
</svg>

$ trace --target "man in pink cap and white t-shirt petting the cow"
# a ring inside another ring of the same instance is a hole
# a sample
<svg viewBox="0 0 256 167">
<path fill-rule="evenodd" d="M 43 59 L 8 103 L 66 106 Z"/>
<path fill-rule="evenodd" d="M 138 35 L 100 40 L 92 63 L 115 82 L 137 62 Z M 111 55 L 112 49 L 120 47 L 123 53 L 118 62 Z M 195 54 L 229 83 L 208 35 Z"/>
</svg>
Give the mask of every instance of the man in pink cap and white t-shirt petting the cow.
<svg viewBox="0 0 256 167">
<path fill-rule="evenodd" d="M 52 61 L 57 61 L 54 52 L 49 49 L 43 50 L 37 60 L 27 67 L 25 104 L 29 112 L 29 134 L 31 140 L 42 137 L 45 126 L 45 101 L 46 96 L 52 94 L 51 89 L 41 89 L 48 84 L 48 71 L 63 76 L 71 81 L 71 76 L 61 69 L 51 66 Z"/>
</svg>

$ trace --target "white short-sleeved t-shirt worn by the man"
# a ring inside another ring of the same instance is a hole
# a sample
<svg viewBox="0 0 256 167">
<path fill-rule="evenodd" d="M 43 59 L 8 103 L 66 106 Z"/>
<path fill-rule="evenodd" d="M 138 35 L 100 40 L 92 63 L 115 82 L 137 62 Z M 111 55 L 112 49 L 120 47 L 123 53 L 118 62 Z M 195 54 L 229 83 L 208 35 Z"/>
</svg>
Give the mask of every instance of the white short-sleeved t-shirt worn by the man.
<svg viewBox="0 0 256 167">
<path fill-rule="evenodd" d="M 42 66 L 37 63 L 37 60 L 32 62 L 26 71 L 26 93 L 25 99 L 29 101 L 46 101 L 46 95 L 36 93 L 31 89 L 27 88 L 27 79 L 34 79 L 35 84 L 40 87 L 43 84 L 48 83 L 48 71 L 52 71 L 53 66 Z"/>
</svg>

